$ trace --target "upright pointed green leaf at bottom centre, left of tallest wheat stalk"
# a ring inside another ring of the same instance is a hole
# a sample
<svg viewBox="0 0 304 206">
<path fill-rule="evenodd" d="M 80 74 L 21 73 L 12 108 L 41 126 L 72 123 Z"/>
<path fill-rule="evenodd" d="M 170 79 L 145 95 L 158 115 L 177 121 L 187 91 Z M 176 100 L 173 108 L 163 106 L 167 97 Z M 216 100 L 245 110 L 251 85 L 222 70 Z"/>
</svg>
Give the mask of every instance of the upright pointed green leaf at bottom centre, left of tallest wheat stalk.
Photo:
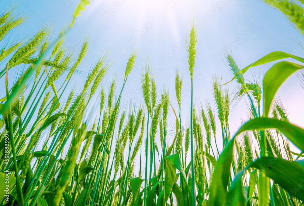
<svg viewBox="0 0 304 206">
<path fill-rule="evenodd" d="M 176 167 L 168 159 L 165 159 L 165 163 L 164 199 L 167 202 L 175 182 Z"/>
</svg>

